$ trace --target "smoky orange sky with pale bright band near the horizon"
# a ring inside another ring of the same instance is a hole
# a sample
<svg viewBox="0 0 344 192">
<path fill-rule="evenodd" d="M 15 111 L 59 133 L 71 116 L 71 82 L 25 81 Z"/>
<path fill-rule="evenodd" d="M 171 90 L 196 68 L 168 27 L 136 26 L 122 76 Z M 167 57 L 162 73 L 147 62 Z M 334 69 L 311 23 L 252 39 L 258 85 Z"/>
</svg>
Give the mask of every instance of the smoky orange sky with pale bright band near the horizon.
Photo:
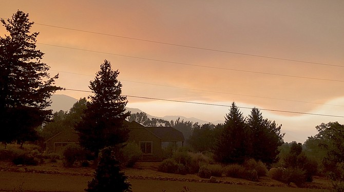
<svg viewBox="0 0 344 192">
<path fill-rule="evenodd" d="M 89 91 L 106 59 L 135 96 L 127 107 L 152 116 L 224 121 L 235 102 L 301 143 L 321 123 L 344 124 L 344 1 L 0 1 L 2 18 L 29 13 L 66 89 Z"/>
</svg>

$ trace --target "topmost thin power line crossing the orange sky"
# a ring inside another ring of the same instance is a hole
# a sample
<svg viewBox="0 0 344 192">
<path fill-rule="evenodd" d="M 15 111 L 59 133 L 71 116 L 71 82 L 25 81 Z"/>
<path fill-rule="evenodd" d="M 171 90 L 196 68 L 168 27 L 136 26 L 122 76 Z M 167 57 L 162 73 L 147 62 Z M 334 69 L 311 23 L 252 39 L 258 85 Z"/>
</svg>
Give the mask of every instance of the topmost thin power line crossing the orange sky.
<svg viewBox="0 0 344 192">
<path fill-rule="evenodd" d="M 301 60 L 292 60 L 292 59 L 285 59 L 285 58 L 281 58 L 281 57 L 264 56 L 264 55 L 249 54 L 249 53 L 240 53 L 240 52 L 225 51 L 225 50 L 219 50 L 219 49 L 209 49 L 209 48 L 203 48 L 203 47 L 195 47 L 195 46 L 180 45 L 180 44 L 166 43 L 166 42 L 160 42 L 160 41 L 144 40 L 144 39 L 133 38 L 133 37 L 128 37 L 128 36 L 113 35 L 113 34 L 100 33 L 100 32 L 93 32 L 93 31 L 80 30 L 80 29 L 73 29 L 73 28 L 67 28 L 67 27 L 59 27 L 59 26 L 46 25 L 46 24 L 39 24 L 39 23 L 35 23 L 35 24 L 36 24 L 36 25 L 47 26 L 47 27 L 54 27 L 54 28 L 60 28 L 60 29 L 67 29 L 67 30 L 85 32 L 85 33 L 92 33 L 92 34 L 99 34 L 99 35 L 106 35 L 106 36 L 113 36 L 113 37 L 120 37 L 120 38 L 123 38 L 123 39 L 129 39 L 129 40 L 136 40 L 136 41 L 157 43 L 157 44 L 164 44 L 164 45 L 172 45 L 172 46 L 178 46 L 178 47 L 186 47 L 186 48 L 192 48 L 192 49 L 200 49 L 200 50 L 207 50 L 207 51 L 215 51 L 215 52 L 239 54 L 239 55 L 246 55 L 246 56 L 255 56 L 255 57 L 261 57 L 261 58 L 266 58 L 266 59 L 283 60 L 283 61 L 292 61 L 292 62 L 313 64 L 313 65 L 324 65 L 324 66 L 332 66 L 332 67 L 344 67 L 344 66 L 341 66 L 341 65 L 333 65 L 333 64 L 326 64 L 326 63 L 316 63 L 316 62 L 308 62 L 308 61 L 301 61 Z"/>
</svg>

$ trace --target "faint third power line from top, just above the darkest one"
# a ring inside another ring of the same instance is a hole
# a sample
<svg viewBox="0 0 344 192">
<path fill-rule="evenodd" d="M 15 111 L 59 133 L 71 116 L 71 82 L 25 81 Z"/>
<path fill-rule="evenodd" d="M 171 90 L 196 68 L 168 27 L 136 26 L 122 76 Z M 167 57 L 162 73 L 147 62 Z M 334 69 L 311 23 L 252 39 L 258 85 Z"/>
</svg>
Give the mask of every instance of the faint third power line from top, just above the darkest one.
<svg viewBox="0 0 344 192">
<path fill-rule="evenodd" d="M 94 76 L 94 75 L 81 74 L 81 73 L 72 73 L 72 72 L 66 72 L 66 71 L 57 71 L 57 70 L 50 70 L 50 71 L 64 72 L 64 73 L 78 74 L 78 75 L 85 75 L 85 76 Z M 228 93 L 228 92 L 221 92 L 221 91 L 210 91 L 210 90 L 202 90 L 202 89 L 192 89 L 192 88 L 186 88 L 186 87 L 176 87 L 176 86 L 160 85 L 160 84 L 153 84 L 153 83 L 144 83 L 144 82 L 123 80 L 123 79 L 121 79 L 120 81 L 132 82 L 132 83 L 141 83 L 141 84 L 154 85 L 154 86 L 162 86 L 162 87 L 171 87 L 171 88 L 177 88 L 177 89 L 187 89 L 187 90 L 205 91 L 205 92 L 212 92 L 212 93 L 232 94 L 232 95 L 239 95 L 239 96 L 253 97 L 253 98 L 261 98 L 261 99 L 272 99 L 272 100 L 280 100 L 280 101 L 291 101 L 291 102 L 299 102 L 299 103 L 311 103 L 311 104 L 318 104 L 318 105 L 330 105 L 330 106 L 344 107 L 343 105 L 333 105 L 333 104 L 326 104 L 326 103 L 315 103 L 315 102 L 298 101 L 298 100 L 289 100 L 289 99 L 259 97 L 259 96 L 255 96 L 255 95 Z"/>
</svg>

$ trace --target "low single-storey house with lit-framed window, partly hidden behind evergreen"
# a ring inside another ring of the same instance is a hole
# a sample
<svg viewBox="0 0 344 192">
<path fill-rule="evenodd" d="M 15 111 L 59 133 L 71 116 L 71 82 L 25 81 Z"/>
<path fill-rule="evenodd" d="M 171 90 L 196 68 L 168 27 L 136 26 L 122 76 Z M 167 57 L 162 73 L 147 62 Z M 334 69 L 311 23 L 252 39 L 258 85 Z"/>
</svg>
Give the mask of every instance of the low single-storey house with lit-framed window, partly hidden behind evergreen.
<svg viewBox="0 0 344 192">
<path fill-rule="evenodd" d="M 136 143 L 143 153 L 142 161 L 162 160 L 164 142 L 177 142 L 184 144 L 183 133 L 173 127 L 145 127 L 135 121 L 125 121 L 124 125 L 128 126 L 129 142 Z M 58 133 L 46 141 L 46 151 L 55 152 L 62 155 L 66 145 L 78 143 L 78 132 L 66 130 Z"/>
</svg>

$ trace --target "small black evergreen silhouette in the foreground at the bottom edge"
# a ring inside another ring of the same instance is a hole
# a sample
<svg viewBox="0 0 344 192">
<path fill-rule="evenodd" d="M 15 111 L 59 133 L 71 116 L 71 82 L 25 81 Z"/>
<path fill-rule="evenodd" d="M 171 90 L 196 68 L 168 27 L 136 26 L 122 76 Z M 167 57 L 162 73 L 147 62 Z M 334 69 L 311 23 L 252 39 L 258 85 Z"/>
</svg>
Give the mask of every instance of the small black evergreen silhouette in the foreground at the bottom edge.
<svg viewBox="0 0 344 192">
<path fill-rule="evenodd" d="M 99 153 L 98 166 L 94 178 L 88 182 L 87 192 L 131 191 L 131 184 L 121 171 L 120 162 L 114 155 L 114 148 L 105 147 Z"/>
</svg>

